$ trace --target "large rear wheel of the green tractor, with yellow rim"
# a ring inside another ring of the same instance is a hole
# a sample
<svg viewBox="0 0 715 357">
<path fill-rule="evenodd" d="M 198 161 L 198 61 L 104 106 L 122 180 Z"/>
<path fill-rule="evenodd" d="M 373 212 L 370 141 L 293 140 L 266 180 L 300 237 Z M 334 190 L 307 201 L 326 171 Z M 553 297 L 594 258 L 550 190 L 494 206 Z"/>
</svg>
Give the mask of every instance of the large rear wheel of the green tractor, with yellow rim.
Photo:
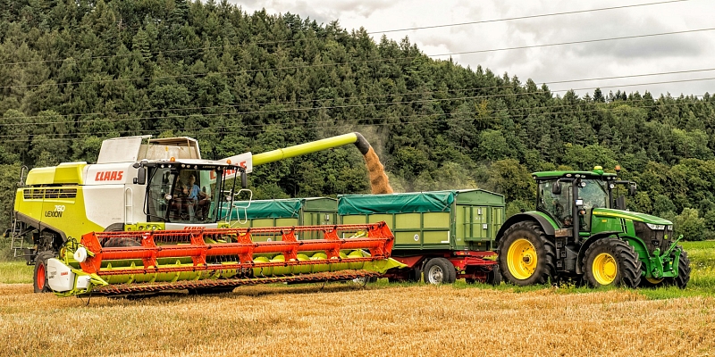
<svg viewBox="0 0 715 357">
<path fill-rule="evenodd" d="M 532 221 L 509 227 L 499 242 L 501 276 L 517 286 L 550 282 L 555 260 L 556 247 Z"/>
</svg>

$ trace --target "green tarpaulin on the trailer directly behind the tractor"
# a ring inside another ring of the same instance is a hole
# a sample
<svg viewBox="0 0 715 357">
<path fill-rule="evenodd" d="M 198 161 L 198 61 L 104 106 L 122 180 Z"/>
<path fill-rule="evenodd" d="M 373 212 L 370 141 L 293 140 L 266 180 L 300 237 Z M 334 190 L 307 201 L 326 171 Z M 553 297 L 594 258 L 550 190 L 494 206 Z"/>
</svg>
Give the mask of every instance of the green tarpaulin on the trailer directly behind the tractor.
<svg viewBox="0 0 715 357">
<path fill-rule="evenodd" d="M 458 191 L 338 195 L 338 214 L 450 212 Z"/>
</svg>

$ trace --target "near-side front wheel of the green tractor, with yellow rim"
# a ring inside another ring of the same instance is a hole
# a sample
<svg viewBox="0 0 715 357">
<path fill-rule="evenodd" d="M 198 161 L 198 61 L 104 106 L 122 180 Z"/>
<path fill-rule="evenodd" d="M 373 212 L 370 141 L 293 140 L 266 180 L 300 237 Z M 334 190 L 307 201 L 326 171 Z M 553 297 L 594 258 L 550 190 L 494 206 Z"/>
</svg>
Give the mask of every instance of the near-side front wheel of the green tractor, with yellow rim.
<svg viewBox="0 0 715 357">
<path fill-rule="evenodd" d="M 585 252 L 583 270 L 589 286 L 627 286 L 641 284 L 641 266 L 635 249 L 616 238 L 604 238 Z"/>
</svg>

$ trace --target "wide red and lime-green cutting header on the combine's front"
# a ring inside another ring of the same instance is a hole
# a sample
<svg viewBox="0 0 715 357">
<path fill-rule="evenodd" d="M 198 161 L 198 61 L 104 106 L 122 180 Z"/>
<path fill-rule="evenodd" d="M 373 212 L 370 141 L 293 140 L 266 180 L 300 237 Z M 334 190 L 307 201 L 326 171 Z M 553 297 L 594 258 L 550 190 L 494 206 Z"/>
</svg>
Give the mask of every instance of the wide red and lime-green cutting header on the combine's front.
<svg viewBox="0 0 715 357">
<path fill-rule="evenodd" d="M 315 231 L 324 238 L 300 239 Z M 276 235 L 282 239 L 252 239 Z M 70 296 L 377 277 L 402 265 L 390 259 L 393 240 L 384 222 L 92 232 L 48 260 L 47 283 L 56 295 Z"/>
</svg>

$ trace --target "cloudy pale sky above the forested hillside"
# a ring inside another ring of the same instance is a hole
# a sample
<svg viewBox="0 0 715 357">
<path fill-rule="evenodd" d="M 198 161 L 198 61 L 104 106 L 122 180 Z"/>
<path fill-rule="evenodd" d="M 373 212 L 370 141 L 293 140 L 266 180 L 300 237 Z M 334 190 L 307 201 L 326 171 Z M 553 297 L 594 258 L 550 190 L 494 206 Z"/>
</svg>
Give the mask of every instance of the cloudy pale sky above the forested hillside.
<svg viewBox="0 0 715 357">
<path fill-rule="evenodd" d="M 339 21 L 349 31 L 362 27 L 375 42 L 383 35 L 398 42 L 408 37 L 433 59 L 451 56 L 473 70 L 481 65 L 522 83 L 532 79 L 556 95 L 569 89 L 593 95 L 596 87 L 655 97 L 715 93 L 713 0 L 229 2 L 248 13 L 265 8 L 323 24 Z M 594 11 L 612 7 L 621 8 Z M 454 24 L 464 25 L 442 26 Z M 436 28 L 414 29 L 425 27 Z"/>
</svg>

